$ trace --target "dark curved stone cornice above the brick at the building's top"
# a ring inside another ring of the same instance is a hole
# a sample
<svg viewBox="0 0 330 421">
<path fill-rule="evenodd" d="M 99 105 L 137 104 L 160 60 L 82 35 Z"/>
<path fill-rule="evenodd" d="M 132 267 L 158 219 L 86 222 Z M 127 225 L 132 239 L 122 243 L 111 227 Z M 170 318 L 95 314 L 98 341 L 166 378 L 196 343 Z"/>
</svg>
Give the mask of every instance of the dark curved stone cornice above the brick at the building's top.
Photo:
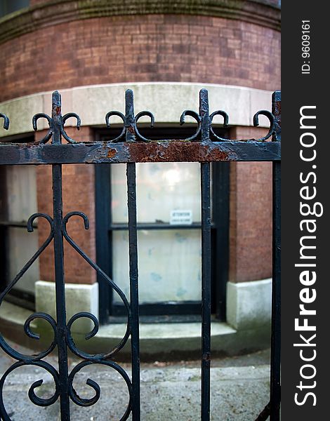
<svg viewBox="0 0 330 421">
<path fill-rule="evenodd" d="M 72 20 L 146 14 L 214 16 L 280 28 L 280 9 L 266 0 L 53 0 L 1 18 L 0 43 Z"/>
</svg>

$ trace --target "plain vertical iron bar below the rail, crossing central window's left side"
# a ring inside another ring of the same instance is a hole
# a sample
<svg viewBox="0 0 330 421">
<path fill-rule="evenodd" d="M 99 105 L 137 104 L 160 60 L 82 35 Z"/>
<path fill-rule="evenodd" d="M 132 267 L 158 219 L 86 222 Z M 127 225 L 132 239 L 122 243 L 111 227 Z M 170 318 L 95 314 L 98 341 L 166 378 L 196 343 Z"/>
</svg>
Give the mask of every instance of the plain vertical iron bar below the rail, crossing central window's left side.
<svg viewBox="0 0 330 421">
<path fill-rule="evenodd" d="M 136 229 L 136 164 L 127 164 L 129 279 L 131 294 L 132 420 L 140 421 L 140 343 L 138 309 L 138 234 Z"/>
</svg>

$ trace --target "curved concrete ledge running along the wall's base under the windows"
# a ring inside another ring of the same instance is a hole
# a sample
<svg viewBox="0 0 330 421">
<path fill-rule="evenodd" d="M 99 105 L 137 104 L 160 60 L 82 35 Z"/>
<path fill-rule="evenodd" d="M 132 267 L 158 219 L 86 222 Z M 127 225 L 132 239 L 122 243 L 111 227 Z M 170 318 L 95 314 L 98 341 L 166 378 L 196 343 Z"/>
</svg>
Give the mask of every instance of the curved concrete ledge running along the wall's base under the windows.
<svg viewBox="0 0 330 421">
<path fill-rule="evenodd" d="M 53 339 L 53 332 L 44 323 L 43 326 L 32 324 L 32 330 L 39 333 L 40 340 L 27 338 L 23 331 L 25 320 L 31 314 L 29 310 L 20 309 L 4 302 L 1 305 L 1 334 L 20 345 L 31 349 L 46 349 Z M 70 309 L 72 313 L 72 309 Z M 74 341 L 86 352 L 109 352 L 117 346 L 124 336 L 126 324 L 117 323 L 101 326 L 98 334 L 90 340 L 85 339 L 89 326 L 79 333 L 74 332 Z M 261 327 L 250 330 L 235 330 L 227 323 L 213 321 L 211 323 L 212 355 L 237 355 L 266 349 L 270 346 L 270 329 Z M 140 356 L 141 361 L 154 359 L 199 359 L 201 354 L 201 323 L 158 323 L 140 324 Z M 131 355 L 130 341 L 117 354 L 119 361 L 129 360 Z"/>
</svg>

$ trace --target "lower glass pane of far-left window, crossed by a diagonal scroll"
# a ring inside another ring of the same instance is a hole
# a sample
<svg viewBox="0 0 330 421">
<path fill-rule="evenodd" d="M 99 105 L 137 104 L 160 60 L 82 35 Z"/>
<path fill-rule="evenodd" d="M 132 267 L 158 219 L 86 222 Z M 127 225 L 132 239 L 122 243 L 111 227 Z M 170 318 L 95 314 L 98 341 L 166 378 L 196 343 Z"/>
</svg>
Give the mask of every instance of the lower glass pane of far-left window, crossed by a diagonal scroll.
<svg viewBox="0 0 330 421">
<path fill-rule="evenodd" d="M 10 256 L 8 282 L 11 282 L 38 249 L 37 229 L 34 229 L 34 232 L 27 232 L 21 227 L 8 227 L 8 243 Z M 14 288 L 34 293 L 34 282 L 38 280 L 39 262 L 37 260 Z"/>
</svg>

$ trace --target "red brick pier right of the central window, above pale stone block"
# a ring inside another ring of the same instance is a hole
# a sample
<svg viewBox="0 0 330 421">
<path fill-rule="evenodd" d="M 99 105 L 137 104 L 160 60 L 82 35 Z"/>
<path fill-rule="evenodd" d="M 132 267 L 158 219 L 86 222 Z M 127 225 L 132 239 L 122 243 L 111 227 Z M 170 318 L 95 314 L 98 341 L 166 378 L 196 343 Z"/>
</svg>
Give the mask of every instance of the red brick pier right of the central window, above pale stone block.
<svg viewBox="0 0 330 421">
<path fill-rule="evenodd" d="M 259 138 L 265 129 L 237 127 L 232 138 Z M 272 276 L 272 163 L 230 164 L 230 281 Z"/>
</svg>

